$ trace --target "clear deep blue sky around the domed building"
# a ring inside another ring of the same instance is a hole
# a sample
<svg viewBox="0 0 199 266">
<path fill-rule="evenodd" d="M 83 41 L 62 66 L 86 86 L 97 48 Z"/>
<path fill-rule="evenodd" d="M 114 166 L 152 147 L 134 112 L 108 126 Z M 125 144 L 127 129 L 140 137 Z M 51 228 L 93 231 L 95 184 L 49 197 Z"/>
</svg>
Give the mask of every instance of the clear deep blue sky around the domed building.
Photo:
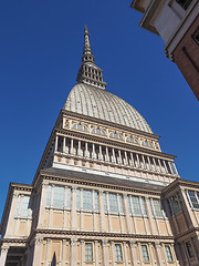
<svg viewBox="0 0 199 266">
<path fill-rule="evenodd" d="M 142 14 L 122 0 L 0 2 L 1 188 L 30 184 L 70 90 L 76 84 L 87 23 L 107 91 L 123 98 L 177 155 L 181 177 L 199 181 L 199 104 L 163 40 L 138 28 Z"/>
</svg>

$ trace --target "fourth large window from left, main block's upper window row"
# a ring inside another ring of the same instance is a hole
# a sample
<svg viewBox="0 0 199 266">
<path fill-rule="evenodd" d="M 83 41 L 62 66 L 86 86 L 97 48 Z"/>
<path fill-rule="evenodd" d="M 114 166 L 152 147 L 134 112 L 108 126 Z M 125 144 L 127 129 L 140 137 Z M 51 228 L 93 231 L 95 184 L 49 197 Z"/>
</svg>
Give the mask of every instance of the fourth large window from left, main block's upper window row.
<svg viewBox="0 0 199 266">
<path fill-rule="evenodd" d="M 129 213 L 136 216 L 147 215 L 145 198 L 139 196 L 128 196 Z"/>
</svg>

